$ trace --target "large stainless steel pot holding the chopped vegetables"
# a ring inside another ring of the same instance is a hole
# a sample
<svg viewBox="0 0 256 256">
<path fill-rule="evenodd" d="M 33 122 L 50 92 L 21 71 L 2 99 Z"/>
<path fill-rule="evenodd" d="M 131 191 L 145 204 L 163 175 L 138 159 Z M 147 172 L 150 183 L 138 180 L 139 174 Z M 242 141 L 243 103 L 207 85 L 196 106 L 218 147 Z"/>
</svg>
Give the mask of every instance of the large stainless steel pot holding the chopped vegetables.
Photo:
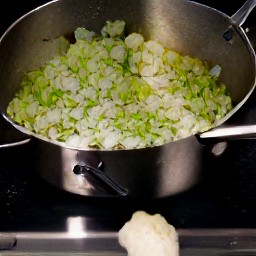
<svg viewBox="0 0 256 256">
<path fill-rule="evenodd" d="M 57 54 L 55 39 L 59 36 L 69 37 L 79 26 L 99 32 L 107 20 L 122 19 L 128 32 L 138 31 L 181 54 L 222 66 L 221 80 L 227 85 L 235 107 L 216 124 L 220 126 L 255 88 L 255 55 L 241 28 L 254 6 L 255 1 L 248 0 L 229 17 L 186 0 L 49 2 L 14 22 L 0 39 L 2 116 L 26 134 L 5 115 L 24 73 L 39 68 Z M 255 126 L 249 127 L 249 131 L 250 135 L 256 134 Z M 198 136 L 211 137 L 210 132 Z M 136 150 L 74 149 L 35 134 L 28 134 L 20 143 L 27 141 L 33 143 L 35 171 L 53 185 L 76 194 L 164 197 L 191 188 L 201 177 L 203 147 L 197 136 Z M 16 144 L 7 146 L 11 145 Z"/>
</svg>

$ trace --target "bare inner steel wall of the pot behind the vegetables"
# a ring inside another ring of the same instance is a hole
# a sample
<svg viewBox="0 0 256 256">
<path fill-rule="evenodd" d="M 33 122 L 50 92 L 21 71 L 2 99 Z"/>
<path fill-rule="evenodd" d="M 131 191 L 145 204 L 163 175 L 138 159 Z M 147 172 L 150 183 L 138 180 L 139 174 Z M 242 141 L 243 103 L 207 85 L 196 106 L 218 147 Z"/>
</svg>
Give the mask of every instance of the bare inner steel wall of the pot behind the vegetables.
<svg viewBox="0 0 256 256">
<path fill-rule="evenodd" d="M 234 106 L 242 105 L 254 88 L 253 49 L 230 17 L 186 0 L 59 0 L 17 20 L 0 41 L 0 109 L 4 114 L 25 72 L 58 54 L 58 37 L 71 38 L 79 27 L 100 32 L 108 20 L 124 20 L 127 32 L 142 33 L 183 55 L 222 67 L 221 81 Z M 230 31 L 231 40 L 223 34 Z M 234 112 L 234 111 L 233 111 Z M 7 118 L 8 119 L 8 118 Z"/>
</svg>

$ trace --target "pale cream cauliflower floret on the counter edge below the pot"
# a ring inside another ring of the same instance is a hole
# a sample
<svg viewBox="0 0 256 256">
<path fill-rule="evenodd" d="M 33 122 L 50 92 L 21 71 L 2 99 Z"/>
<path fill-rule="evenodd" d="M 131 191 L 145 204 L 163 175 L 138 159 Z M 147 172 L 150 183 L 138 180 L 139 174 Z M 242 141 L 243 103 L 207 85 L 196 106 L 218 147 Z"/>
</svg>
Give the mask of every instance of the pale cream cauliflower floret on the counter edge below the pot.
<svg viewBox="0 0 256 256">
<path fill-rule="evenodd" d="M 178 256 L 176 229 L 160 214 L 137 211 L 118 232 L 119 244 L 128 256 Z"/>
</svg>

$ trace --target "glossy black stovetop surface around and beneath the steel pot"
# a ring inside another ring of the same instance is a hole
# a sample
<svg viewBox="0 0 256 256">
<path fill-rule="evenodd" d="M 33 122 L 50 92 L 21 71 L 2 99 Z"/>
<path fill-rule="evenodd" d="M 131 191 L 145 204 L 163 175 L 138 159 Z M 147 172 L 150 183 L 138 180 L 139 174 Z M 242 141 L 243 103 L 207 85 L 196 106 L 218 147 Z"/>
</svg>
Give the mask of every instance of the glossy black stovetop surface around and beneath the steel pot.
<svg viewBox="0 0 256 256">
<path fill-rule="evenodd" d="M 0 10 L 0 32 L 45 2 L 9 1 Z M 217 1 L 199 2 L 232 15 L 244 1 L 232 3 L 232 8 Z M 245 26 L 255 40 L 256 20 L 249 17 Z M 256 123 L 256 92 L 229 122 Z M 181 229 L 256 228 L 256 139 L 231 140 L 222 154 L 205 154 L 202 181 L 160 199 L 92 198 L 59 190 L 33 170 L 32 156 L 30 143 L 0 148 L 0 232 L 65 231 L 77 217 L 90 220 L 88 229 L 117 231 L 136 210 L 160 213 Z"/>
</svg>

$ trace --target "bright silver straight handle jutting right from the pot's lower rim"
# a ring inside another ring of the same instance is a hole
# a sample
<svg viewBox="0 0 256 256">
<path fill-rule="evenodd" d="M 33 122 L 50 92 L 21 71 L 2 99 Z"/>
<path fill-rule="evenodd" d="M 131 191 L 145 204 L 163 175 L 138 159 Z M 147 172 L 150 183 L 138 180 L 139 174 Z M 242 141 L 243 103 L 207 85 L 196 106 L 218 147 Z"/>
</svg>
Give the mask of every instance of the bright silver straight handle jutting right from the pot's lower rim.
<svg viewBox="0 0 256 256">
<path fill-rule="evenodd" d="M 256 138 L 256 125 L 219 127 L 198 135 L 200 139 L 253 139 Z"/>
</svg>

